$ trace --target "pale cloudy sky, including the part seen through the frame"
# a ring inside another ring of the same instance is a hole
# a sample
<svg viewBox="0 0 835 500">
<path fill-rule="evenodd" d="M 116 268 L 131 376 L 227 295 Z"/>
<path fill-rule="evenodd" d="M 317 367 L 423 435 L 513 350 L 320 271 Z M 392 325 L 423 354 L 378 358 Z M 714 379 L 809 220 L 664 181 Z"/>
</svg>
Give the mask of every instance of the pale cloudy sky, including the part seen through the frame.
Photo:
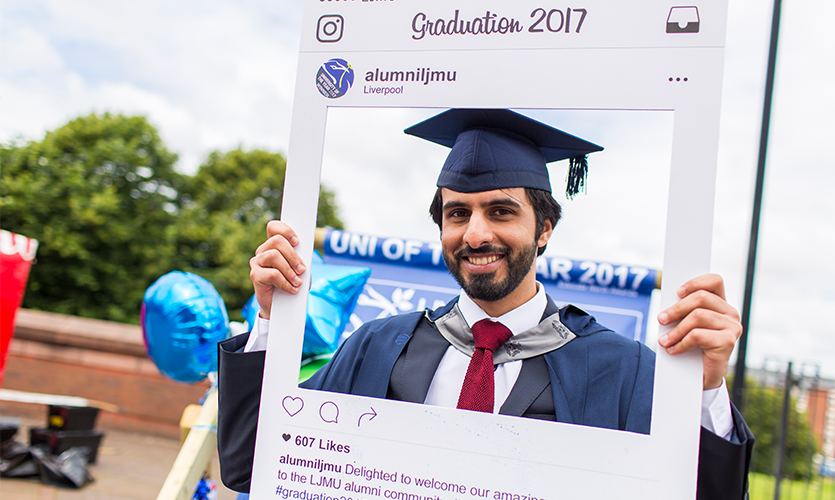
<svg viewBox="0 0 835 500">
<path fill-rule="evenodd" d="M 286 152 L 302 3 L 4 0 L 0 141 L 40 140 L 75 117 L 109 111 L 147 116 L 179 154 L 184 173 L 194 173 L 213 150 L 240 146 Z M 724 277 L 728 300 L 738 309 L 771 10 L 770 2 L 731 0 L 728 12 L 711 271 Z M 828 35 L 833 18 L 835 2 L 829 0 L 783 3 L 748 343 L 749 366 L 791 360 L 807 364 L 808 373 L 819 366 L 829 378 L 835 378 L 835 326 L 830 323 L 835 314 L 835 152 L 830 145 L 835 43 Z M 380 113 L 387 114 L 362 118 L 369 137 L 384 133 L 381 123 L 405 127 L 417 116 L 413 110 Z M 615 182 L 593 189 L 601 194 L 619 183 L 639 182 L 621 186 L 635 208 L 615 205 L 614 193 L 605 204 L 582 198 L 566 204 L 548 253 L 660 267 L 671 117 L 658 112 L 637 118 L 617 113 L 557 118 L 579 124 L 572 132 L 581 137 L 605 140 L 607 150 L 641 158 L 657 174 L 636 181 L 609 169 L 609 160 L 595 160 L 595 168 L 613 172 Z M 366 151 L 384 162 L 402 138 L 376 141 L 374 148 L 340 143 L 332 130 L 352 119 L 330 118 L 322 173 L 326 187 L 336 191 L 347 229 L 435 239 L 437 230 L 425 216 L 434 187 L 426 179 L 434 178 L 444 153 L 413 140 L 402 146 L 413 152 L 404 156 L 406 177 L 384 169 L 360 176 L 352 170 L 361 166 L 352 165 L 359 159 L 340 150 Z M 640 127 L 623 125 L 636 120 Z M 641 142 L 638 130 L 647 130 L 644 135 L 655 138 L 654 144 Z M 562 178 L 564 171 L 555 168 L 552 178 Z M 401 208 L 381 210 L 385 202 L 363 192 L 388 193 Z"/>
</svg>

